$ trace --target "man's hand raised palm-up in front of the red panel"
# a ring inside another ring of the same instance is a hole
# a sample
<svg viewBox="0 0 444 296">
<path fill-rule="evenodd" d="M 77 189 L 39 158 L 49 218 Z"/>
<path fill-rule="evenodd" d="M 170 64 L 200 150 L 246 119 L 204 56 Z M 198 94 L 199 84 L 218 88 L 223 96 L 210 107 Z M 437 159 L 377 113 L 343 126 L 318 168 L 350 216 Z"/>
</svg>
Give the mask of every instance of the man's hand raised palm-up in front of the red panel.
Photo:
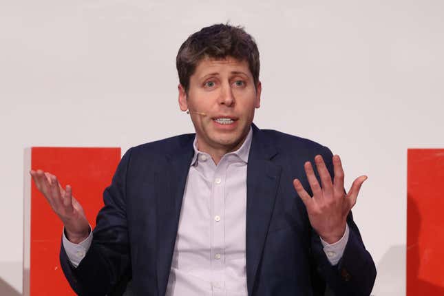
<svg viewBox="0 0 444 296">
<path fill-rule="evenodd" d="M 56 176 L 41 170 L 32 170 L 30 174 L 37 189 L 45 195 L 52 210 L 65 225 L 67 239 L 74 244 L 85 240 L 89 235 L 89 224 L 81 204 L 72 196 L 70 185 L 63 189 Z"/>
</svg>

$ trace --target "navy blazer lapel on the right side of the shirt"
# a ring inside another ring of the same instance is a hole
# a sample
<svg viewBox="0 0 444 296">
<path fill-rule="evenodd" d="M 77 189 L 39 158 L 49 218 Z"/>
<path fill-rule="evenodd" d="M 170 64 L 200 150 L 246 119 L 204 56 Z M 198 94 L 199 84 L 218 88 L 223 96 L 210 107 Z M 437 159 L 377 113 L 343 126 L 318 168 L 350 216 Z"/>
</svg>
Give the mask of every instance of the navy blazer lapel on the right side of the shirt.
<svg viewBox="0 0 444 296">
<path fill-rule="evenodd" d="M 276 154 L 271 140 L 253 125 L 246 173 L 246 282 L 249 295 L 253 292 L 281 176 L 282 168 L 271 162 Z"/>
</svg>

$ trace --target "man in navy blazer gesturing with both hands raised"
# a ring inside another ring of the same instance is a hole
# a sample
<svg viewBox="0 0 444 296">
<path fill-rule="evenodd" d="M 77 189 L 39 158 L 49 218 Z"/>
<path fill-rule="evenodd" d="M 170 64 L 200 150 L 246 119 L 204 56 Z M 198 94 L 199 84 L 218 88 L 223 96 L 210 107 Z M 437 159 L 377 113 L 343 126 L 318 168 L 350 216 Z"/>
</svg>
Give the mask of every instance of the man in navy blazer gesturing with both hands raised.
<svg viewBox="0 0 444 296">
<path fill-rule="evenodd" d="M 177 68 L 195 134 L 129 149 L 94 231 L 69 185 L 31 171 L 65 225 L 72 288 L 105 295 L 131 277 L 136 295 L 369 295 L 376 270 L 350 213 L 366 176 L 346 194 L 339 156 L 253 125 L 262 86 L 252 37 L 203 28 Z"/>
</svg>

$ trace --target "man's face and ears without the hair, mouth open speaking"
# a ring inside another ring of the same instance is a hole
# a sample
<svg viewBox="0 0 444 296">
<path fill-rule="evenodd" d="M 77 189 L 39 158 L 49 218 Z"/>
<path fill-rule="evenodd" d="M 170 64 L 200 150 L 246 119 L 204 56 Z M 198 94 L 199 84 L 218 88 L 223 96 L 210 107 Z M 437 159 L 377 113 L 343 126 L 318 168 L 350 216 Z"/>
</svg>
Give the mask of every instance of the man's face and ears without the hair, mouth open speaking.
<svg viewBox="0 0 444 296">
<path fill-rule="evenodd" d="M 242 145 L 260 107 L 261 84 L 255 87 L 246 61 L 204 58 L 190 77 L 188 94 L 179 85 L 179 105 L 191 113 L 200 151 L 234 151 Z"/>
</svg>

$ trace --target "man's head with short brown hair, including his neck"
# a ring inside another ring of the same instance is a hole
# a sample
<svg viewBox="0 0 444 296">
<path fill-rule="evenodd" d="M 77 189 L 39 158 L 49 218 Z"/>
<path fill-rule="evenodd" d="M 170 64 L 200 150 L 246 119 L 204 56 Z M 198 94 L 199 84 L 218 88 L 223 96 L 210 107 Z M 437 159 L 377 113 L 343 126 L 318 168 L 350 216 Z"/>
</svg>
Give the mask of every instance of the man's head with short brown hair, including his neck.
<svg viewBox="0 0 444 296">
<path fill-rule="evenodd" d="M 218 162 L 242 145 L 260 107 L 257 45 L 242 28 L 212 25 L 182 44 L 177 67 L 180 109 L 192 112 L 198 149 Z"/>
</svg>

